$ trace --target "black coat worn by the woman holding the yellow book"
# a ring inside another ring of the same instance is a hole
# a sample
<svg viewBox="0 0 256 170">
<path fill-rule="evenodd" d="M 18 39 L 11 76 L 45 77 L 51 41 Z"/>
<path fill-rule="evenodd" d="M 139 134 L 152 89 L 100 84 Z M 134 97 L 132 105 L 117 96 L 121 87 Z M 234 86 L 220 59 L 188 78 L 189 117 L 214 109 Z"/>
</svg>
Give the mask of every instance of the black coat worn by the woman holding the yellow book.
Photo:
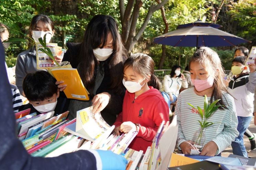
<svg viewBox="0 0 256 170">
<path fill-rule="evenodd" d="M 68 50 L 64 54 L 62 61 L 69 61 L 72 68 L 77 68 L 79 64 L 79 53 L 81 49 L 80 43 L 67 43 Z M 106 60 L 107 61 L 107 60 Z M 103 119 L 109 124 L 113 125 L 116 120 L 116 116 L 122 111 L 123 98 L 125 94 L 125 88 L 122 87 L 121 93 L 114 92 L 113 89 L 110 89 L 111 86 L 111 77 L 110 77 L 110 69 L 107 66 L 108 64 L 104 64 L 104 77 L 96 90 L 96 95 L 102 92 L 108 92 L 111 94 L 111 99 L 109 104 L 101 111 L 101 116 Z M 90 100 L 93 96 L 90 96 Z"/>
</svg>

